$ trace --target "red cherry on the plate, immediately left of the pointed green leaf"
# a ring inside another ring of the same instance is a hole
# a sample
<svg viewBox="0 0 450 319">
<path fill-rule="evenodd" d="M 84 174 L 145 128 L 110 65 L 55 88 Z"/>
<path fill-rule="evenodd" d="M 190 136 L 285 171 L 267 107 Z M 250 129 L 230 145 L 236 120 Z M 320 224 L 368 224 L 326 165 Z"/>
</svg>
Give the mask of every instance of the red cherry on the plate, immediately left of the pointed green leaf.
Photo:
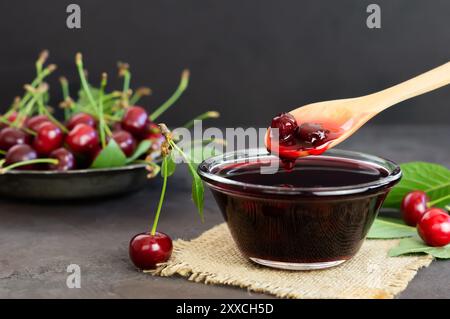
<svg viewBox="0 0 450 319">
<path fill-rule="evenodd" d="M 75 153 L 92 153 L 98 148 L 97 131 L 87 124 L 76 125 L 67 135 L 66 143 Z"/>
</svg>

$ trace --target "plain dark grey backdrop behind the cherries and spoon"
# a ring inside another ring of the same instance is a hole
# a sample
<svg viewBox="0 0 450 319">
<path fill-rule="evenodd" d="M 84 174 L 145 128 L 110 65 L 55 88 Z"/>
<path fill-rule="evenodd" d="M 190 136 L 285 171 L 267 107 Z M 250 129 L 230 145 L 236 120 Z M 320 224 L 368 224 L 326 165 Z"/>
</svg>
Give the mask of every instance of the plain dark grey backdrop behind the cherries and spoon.
<svg viewBox="0 0 450 319">
<path fill-rule="evenodd" d="M 82 29 L 65 26 L 78 3 Z M 366 27 L 366 7 L 382 9 L 382 28 Z M 76 80 L 82 51 L 91 80 L 132 66 L 133 84 L 148 85 L 158 106 L 192 71 L 189 91 L 164 120 L 178 125 L 215 108 L 221 126 L 264 126 L 274 113 L 317 100 L 364 95 L 450 58 L 448 0 L 21 0 L 0 3 L 0 104 L 30 81 L 43 48 Z M 53 76 L 54 104 L 59 100 Z M 115 83 L 116 85 L 118 83 Z M 76 81 L 76 86 L 78 81 Z M 75 90 L 73 90 L 75 91 Z M 404 102 L 372 123 L 446 123 L 450 89 Z"/>
</svg>

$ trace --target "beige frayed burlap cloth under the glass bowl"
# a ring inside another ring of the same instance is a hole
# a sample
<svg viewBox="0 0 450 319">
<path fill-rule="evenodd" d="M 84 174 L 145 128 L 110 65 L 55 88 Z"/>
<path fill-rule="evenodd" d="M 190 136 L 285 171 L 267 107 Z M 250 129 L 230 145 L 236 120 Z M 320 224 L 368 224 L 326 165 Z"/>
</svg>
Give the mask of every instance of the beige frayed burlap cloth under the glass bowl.
<svg viewBox="0 0 450 319">
<path fill-rule="evenodd" d="M 403 291 L 429 256 L 388 257 L 398 240 L 366 240 L 359 253 L 326 270 L 284 271 L 243 257 L 226 224 L 191 240 L 174 242 L 171 259 L 155 272 L 213 285 L 231 285 L 283 298 L 393 298 Z"/>
</svg>

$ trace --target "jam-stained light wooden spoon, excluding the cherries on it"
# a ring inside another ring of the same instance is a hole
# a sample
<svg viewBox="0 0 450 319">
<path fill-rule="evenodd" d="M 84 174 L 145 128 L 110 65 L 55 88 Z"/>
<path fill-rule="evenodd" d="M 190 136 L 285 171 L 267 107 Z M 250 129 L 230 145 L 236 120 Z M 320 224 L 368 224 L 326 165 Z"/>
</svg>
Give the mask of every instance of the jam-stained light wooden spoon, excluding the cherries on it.
<svg viewBox="0 0 450 319">
<path fill-rule="evenodd" d="M 295 117 L 298 125 L 319 123 L 324 128 L 338 128 L 339 134 L 316 148 L 300 148 L 294 152 L 291 149 L 288 158 L 320 154 L 350 137 L 368 120 L 388 107 L 447 84 L 450 84 L 450 62 L 380 92 L 298 107 L 289 112 Z M 278 153 L 271 145 L 278 146 L 278 143 L 270 141 L 269 129 L 266 134 L 266 146 L 274 153 Z M 282 155 L 280 152 L 280 157 Z"/>
</svg>

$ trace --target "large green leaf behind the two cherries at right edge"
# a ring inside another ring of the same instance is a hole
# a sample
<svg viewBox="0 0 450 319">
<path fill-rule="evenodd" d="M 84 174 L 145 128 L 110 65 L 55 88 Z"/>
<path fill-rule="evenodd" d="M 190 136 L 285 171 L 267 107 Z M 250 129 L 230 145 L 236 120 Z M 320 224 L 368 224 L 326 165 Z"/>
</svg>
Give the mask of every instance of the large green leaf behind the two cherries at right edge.
<svg viewBox="0 0 450 319">
<path fill-rule="evenodd" d="M 426 192 L 435 207 L 444 208 L 450 203 L 448 168 L 427 162 L 410 162 L 400 164 L 400 167 L 403 177 L 389 193 L 384 201 L 384 207 L 400 208 L 403 197 L 414 190 Z"/>
</svg>

